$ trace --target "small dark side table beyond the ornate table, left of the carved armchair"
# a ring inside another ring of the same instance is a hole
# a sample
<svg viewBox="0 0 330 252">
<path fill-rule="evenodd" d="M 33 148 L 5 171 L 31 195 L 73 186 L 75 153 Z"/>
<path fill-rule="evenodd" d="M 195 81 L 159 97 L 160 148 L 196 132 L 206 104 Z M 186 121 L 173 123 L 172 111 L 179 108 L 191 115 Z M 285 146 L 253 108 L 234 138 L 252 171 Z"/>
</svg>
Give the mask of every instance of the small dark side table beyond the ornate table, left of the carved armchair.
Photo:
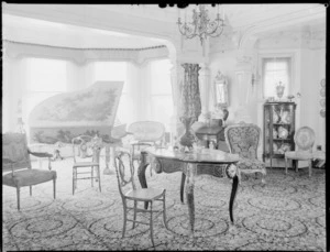
<svg viewBox="0 0 330 252">
<path fill-rule="evenodd" d="M 209 147 L 211 141 L 215 142 L 215 146 L 218 146 L 219 141 L 224 141 L 224 127 L 201 127 L 196 130 L 196 136 L 205 142 L 205 147 Z"/>
</svg>

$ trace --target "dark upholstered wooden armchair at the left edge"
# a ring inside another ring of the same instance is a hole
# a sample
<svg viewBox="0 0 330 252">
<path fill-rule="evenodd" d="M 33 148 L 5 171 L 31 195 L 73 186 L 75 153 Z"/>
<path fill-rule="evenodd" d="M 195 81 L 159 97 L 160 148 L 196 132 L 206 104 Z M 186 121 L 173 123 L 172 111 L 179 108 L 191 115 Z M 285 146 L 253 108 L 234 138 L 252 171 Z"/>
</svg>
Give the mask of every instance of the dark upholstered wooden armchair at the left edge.
<svg viewBox="0 0 330 252">
<path fill-rule="evenodd" d="M 48 171 L 35 169 L 31 166 L 30 154 L 37 157 L 48 158 Z M 51 171 L 51 157 L 48 153 L 31 152 L 28 147 L 26 135 L 24 133 L 2 134 L 2 184 L 16 188 L 18 210 L 20 210 L 21 187 L 32 186 L 53 180 L 54 199 L 56 198 L 56 172 Z"/>
</svg>

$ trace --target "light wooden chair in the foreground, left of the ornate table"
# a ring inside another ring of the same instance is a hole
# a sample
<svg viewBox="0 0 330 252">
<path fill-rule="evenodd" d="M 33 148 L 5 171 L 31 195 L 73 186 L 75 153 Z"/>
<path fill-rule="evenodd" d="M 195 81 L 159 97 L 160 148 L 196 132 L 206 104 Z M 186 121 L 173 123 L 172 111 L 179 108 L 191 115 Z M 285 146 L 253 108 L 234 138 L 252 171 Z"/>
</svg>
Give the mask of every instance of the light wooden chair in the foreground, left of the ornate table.
<svg viewBox="0 0 330 252">
<path fill-rule="evenodd" d="M 118 179 L 118 188 L 123 204 L 123 230 L 122 238 L 125 235 L 127 222 L 133 222 L 133 229 L 135 228 L 135 223 L 148 224 L 150 226 L 150 237 L 152 240 L 153 246 L 154 238 L 153 238 L 153 213 L 157 213 L 158 217 L 163 213 L 163 222 L 166 229 L 166 205 L 165 205 L 165 189 L 161 188 L 141 188 L 136 189 L 134 183 L 134 166 L 132 164 L 132 158 L 129 152 L 118 151 L 116 153 L 116 173 Z M 129 189 L 125 189 L 130 186 Z M 127 187 L 128 186 L 128 187 Z M 124 191 L 125 189 L 125 191 Z M 133 206 L 129 206 L 129 201 L 134 204 Z M 144 204 L 142 208 L 138 208 L 138 202 L 148 202 L 150 209 L 144 209 Z M 154 201 L 163 201 L 163 209 L 156 210 L 153 209 Z M 128 213 L 133 211 L 133 219 L 128 218 Z M 150 213 L 150 222 L 143 222 L 136 220 L 138 212 L 147 212 Z"/>
</svg>

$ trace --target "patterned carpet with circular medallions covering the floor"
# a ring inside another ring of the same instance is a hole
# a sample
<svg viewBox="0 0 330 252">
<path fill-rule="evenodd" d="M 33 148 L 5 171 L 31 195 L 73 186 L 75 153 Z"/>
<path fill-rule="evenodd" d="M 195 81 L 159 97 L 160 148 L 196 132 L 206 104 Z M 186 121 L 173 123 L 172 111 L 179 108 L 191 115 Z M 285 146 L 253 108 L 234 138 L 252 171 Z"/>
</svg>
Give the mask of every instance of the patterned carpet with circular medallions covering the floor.
<svg viewBox="0 0 330 252">
<path fill-rule="evenodd" d="M 127 230 L 121 239 L 122 201 L 116 175 L 101 175 L 102 191 L 79 180 L 72 195 L 70 158 L 56 161 L 57 198 L 52 182 L 37 185 L 33 196 L 22 189 L 21 211 L 15 189 L 3 187 L 2 249 L 18 250 L 153 250 L 147 226 Z M 37 163 L 33 163 L 38 167 Z M 103 168 L 101 168 L 103 169 Z M 180 173 L 155 174 L 147 168 L 148 186 L 166 188 L 169 230 L 162 218 L 154 222 L 155 250 L 285 250 L 326 251 L 324 171 L 298 173 L 267 169 L 267 185 L 243 177 L 229 221 L 231 180 L 196 179 L 196 240 L 188 235 L 187 205 L 179 200 Z M 141 218 L 144 218 L 143 216 Z"/>
</svg>

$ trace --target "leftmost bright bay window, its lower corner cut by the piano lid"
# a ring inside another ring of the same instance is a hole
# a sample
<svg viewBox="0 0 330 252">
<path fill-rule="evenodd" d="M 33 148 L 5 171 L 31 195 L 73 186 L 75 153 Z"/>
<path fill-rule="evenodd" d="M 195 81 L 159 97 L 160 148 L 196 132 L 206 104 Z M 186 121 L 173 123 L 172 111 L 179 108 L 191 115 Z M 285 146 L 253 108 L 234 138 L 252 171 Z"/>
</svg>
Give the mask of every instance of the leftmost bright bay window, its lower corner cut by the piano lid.
<svg viewBox="0 0 330 252">
<path fill-rule="evenodd" d="M 61 59 L 28 58 L 23 118 L 41 101 L 67 90 L 67 64 Z"/>
</svg>

